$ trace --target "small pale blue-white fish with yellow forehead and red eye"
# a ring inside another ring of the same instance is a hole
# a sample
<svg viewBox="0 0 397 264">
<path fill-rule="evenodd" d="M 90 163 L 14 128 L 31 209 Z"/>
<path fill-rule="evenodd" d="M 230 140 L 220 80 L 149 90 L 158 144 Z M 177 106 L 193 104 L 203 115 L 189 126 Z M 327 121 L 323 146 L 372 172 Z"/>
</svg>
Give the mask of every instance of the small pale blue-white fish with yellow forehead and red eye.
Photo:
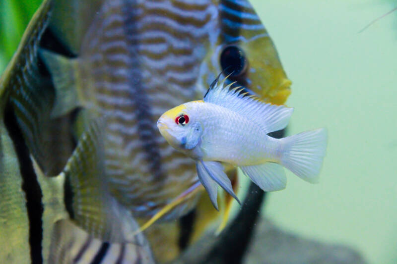
<svg viewBox="0 0 397 264">
<path fill-rule="evenodd" d="M 275 139 L 267 134 L 286 127 L 293 108 L 265 103 L 225 85 L 211 84 L 202 101 L 166 111 L 157 121 L 161 135 L 196 161 L 201 184 L 217 209 L 217 187 L 237 197 L 221 162 L 238 166 L 264 191 L 282 190 L 282 166 L 305 181 L 318 181 L 327 147 L 324 128 Z"/>
</svg>

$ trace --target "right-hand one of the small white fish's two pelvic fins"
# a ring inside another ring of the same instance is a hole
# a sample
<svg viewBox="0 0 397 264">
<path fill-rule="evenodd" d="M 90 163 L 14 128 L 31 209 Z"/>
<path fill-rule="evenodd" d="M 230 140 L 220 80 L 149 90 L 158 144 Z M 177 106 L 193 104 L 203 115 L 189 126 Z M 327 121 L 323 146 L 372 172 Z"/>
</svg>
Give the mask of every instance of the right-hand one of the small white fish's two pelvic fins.
<svg viewBox="0 0 397 264">
<path fill-rule="evenodd" d="M 222 189 L 224 189 L 228 194 L 230 194 L 236 201 L 240 204 L 240 200 L 237 198 L 236 194 L 233 191 L 232 183 L 230 179 L 227 177 L 226 173 L 223 170 L 223 166 L 220 162 L 217 161 L 202 161 L 199 163 L 202 164 L 205 172 L 209 175 L 209 177 L 215 181 Z"/>
</svg>

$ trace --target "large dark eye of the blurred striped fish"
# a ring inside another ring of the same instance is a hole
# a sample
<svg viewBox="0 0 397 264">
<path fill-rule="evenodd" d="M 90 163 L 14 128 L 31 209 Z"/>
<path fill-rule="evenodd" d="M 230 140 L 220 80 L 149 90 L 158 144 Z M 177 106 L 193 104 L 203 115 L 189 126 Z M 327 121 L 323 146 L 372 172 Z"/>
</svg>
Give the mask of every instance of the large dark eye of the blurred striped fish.
<svg viewBox="0 0 397 264">
<path fill-rule="evenodd" d="M 247 59 L 237 46 L 227 46 L 220 54 L 220 65 L 225 75 L 238 76 L 245 72 Z"/>
</svg>

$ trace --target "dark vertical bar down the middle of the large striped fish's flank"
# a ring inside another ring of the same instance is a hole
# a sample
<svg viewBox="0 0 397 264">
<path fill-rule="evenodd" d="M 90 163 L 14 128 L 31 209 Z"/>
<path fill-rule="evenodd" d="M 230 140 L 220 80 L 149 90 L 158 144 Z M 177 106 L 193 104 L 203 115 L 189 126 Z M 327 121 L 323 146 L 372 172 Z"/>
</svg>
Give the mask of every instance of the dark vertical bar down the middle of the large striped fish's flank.
<svg viewBox="0 0 397 264">
<path fill-rule="evenodd" d="M 136 14 L 131 10 L 130 4 L 123 5 L 124 30 L 128 41 L 129 57 L 133 64 L 131 74 L 129 77 L 130 83 L 130 96 L 134 104 L 135 116 L 138 124 L 139 139 L 142 142 L 142 148 L 146 153 L 145 159 L 147 160 L 148 166 L 151 173 L 157 179 L 165 179 L 165 174 L 161 167 L 160 148 L 157 144 L 157 130 L 153 126 L 153 115 L 151 112 L 151 104 L 148 100 L 146 93 L 144 92 L 143 81 L 141 72 L 139 69 L 139 61 L 137 58 L 136 50 L 136 39 L 134 36 L 138 34 L 136 25 Z"/>
</svg>

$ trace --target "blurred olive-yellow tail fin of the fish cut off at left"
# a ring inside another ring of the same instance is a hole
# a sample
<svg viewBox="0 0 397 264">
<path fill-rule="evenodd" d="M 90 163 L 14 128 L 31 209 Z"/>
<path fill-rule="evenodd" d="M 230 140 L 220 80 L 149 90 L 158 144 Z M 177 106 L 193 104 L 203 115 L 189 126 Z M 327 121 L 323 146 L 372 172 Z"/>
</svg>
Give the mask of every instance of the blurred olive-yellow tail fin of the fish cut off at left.
<svg viewBox="0 0 397 264">
<path fill-rule="evenodd" d="M 67 161 L 65 204 L 70 218 L 95 238 L 134 243 L 138 225 L 108 191 L 103 164 L 104 119 L 93 121 Z"/>
</svg>

